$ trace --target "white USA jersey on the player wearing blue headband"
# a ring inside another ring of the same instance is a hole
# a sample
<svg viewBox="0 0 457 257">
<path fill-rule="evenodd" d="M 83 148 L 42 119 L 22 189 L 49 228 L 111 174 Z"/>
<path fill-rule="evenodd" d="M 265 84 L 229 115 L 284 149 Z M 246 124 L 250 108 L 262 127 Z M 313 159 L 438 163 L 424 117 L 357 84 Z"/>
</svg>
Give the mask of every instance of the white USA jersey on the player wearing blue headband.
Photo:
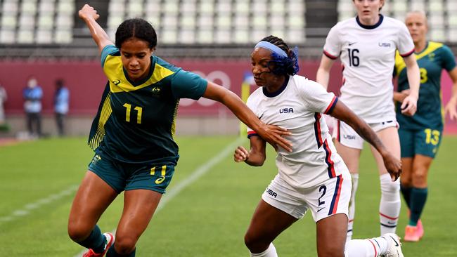
<svg viewBox="0 0 457 257">
<path fill-rule="evenodd" d="M 340 176 L 347 168 L 333 146 L 325 119 L 337 103 L 333 93 L 305 77 L 290 76 L 288 84 L 274 94 L 258 88 L 247 99 L 261 121 L 288 129 L 285 136 L 292 152 L 278 147 L 279 175 L 292 187 L 309 188 Z M 248 136 L 255 134 L 247 129 Z"/>
</svg>

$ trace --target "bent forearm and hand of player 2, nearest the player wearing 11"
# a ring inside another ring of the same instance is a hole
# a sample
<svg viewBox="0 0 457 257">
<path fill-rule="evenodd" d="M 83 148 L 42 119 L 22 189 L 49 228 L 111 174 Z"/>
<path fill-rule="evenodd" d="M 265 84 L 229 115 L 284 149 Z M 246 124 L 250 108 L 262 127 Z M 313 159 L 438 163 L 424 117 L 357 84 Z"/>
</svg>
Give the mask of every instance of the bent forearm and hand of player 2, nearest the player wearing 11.
<svg viewBox="0 0 457 257">
<path fill-rule="evenodd" d="M 251 136 L 250 144 L 250 151 L 247 151 L 243 146 L 238 146 L 233 153 L 233 160 L 245 162 L 250 166 L 262 166 L 266 159 L 265 140 L 258 136 Z"/>
</svg>

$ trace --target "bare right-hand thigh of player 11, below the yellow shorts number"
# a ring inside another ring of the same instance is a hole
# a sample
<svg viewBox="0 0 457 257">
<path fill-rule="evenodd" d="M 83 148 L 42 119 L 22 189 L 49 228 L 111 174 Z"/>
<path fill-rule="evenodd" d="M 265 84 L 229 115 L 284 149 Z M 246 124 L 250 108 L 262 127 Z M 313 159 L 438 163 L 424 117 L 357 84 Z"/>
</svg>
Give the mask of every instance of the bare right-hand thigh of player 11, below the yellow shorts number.
<svg viewBox="0 0 457 257">
<path fill-rule="evenodd" d="M 133 247 L 148 227 L 162 193 L 153 190 L 126 190 L 124 209 L 117 225 L 116 244 Z"/>
</svg>

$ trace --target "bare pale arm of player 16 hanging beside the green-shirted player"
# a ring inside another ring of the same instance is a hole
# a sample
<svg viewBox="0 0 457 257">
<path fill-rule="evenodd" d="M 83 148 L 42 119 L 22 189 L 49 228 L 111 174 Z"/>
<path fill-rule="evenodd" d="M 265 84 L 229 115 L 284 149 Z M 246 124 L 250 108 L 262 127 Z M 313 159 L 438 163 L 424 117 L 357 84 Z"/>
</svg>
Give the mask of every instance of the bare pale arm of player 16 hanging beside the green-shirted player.
<svg viewBox="0 0 457 257">
<path fill-rule="evenodd" d="M 406 75 L 408 76 L 409 95 L 401 103 L 401 113 L 413 116 L 417 110 L 420 86 L 420 72 L 416 55 L 409 55 L 403 58 L 406 64 Z"/>
</svg>

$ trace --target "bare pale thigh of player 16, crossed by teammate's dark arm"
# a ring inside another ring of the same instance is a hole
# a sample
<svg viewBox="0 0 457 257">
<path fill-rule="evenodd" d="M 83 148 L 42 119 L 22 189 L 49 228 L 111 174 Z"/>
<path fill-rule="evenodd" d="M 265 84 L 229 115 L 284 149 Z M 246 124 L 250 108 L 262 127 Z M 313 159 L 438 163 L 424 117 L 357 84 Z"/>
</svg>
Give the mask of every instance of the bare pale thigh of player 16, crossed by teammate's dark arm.
<svg viewBox="0 0 457 257">
<path fill-rule="evenodd" d="M 394 126 L 390 126 L 386 129 L 382 129 L 378 132 L 378 137 L 380 138 L 381 142 L 383 145 L 385 145 L 387 151 L 389 151 L 391 154 L 394 155 L 394 157 L 397 157 L 400 159 L 401 154 L 400 154 L 400 140 L 399 140 L 399 135 L 397 132 L 397 128 Z M 385 169 L 384 166 L 384 161 L 382 159 L 381 154 L 378 152 L 378 150 L 375 149 L 375 147 L 371 146 L 371 152 L 373 153 L 373 157 L 375 157 L 376 165 L 378 166 L 378 171 L 379 174 L 385 174 L 387 173 L 387 169 Z"/>
</svg>

